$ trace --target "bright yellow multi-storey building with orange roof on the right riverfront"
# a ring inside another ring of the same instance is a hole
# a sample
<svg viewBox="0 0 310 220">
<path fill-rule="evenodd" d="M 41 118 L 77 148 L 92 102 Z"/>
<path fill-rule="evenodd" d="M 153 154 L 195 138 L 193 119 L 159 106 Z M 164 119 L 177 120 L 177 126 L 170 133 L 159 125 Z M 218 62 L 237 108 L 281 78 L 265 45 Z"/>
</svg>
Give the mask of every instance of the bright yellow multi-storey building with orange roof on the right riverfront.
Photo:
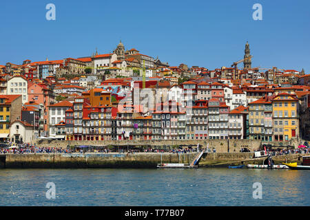
<svg viewBox="0 0 310 220">
<path fill-rule="evenodd" d="M 272 99 L 273 140 L 288 141 L 299 137 L 298 99 L 294 94 L 280 93 Z"/>
</svg>

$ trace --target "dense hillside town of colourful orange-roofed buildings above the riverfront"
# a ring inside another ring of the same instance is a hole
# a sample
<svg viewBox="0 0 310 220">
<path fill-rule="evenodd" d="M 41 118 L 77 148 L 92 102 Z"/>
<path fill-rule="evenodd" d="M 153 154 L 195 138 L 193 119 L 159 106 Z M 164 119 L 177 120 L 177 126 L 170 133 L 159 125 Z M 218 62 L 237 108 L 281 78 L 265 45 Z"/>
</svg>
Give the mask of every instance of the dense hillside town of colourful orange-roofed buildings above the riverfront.
<svg viewBox="0 0 310 220">
<path fill-rule="evenodd" d="M 0 65 L 0 142 L 309 140 L 310 74 L 252 67 L 249 43 L 243 55 L 218 69 L 170 66 L 120 42 L 110 53 Z"/>
</svg>

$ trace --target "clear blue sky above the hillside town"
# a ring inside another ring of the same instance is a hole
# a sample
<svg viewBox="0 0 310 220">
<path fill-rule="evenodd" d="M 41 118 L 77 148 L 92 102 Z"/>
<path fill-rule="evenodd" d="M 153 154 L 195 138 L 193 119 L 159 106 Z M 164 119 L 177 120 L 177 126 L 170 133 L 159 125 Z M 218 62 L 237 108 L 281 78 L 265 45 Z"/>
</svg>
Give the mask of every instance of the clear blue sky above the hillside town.
<svg viewBox="0 0 310 220">
<path fill-rule="evenodd" d="M 45 5 L 56 5 L 48 21 Z M 262 21 L 254 21 L 254 3 Z M 169 65 L 214 69 L 243 58 L 249 41 L 252 67 L 310 72 L 310 1 L 2 1 L 0 65 L 125 49 L 159 56 Z M 242 65 L 240 65 L 242 67 Z"/>
</svg>

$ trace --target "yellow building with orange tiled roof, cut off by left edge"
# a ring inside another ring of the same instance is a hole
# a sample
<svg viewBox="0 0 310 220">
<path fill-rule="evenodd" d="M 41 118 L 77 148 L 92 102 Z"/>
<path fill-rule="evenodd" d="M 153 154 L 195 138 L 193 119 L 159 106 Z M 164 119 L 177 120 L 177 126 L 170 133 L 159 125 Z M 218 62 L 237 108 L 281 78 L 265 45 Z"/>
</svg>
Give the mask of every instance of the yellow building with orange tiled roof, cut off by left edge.
<svg viewBox="0 0 310 220">
<path fill-rule="evenodd" d="M 8 140 L 10 122 L 21 117 L 21 95 L 0 95 L 0 142 Z"/>
</svg>

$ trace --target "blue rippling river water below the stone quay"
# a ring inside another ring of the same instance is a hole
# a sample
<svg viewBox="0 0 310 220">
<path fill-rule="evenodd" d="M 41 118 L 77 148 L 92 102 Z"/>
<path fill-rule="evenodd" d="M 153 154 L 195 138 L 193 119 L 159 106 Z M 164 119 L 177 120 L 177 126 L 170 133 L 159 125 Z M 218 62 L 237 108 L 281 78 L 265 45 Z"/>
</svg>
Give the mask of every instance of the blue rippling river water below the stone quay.
<svg viewBox="0 0 310 220">
<path fill-rule="evenodd" d="M 1 169 L 0 206 L 310 206 L 310 171 Z"/>
</svg>

